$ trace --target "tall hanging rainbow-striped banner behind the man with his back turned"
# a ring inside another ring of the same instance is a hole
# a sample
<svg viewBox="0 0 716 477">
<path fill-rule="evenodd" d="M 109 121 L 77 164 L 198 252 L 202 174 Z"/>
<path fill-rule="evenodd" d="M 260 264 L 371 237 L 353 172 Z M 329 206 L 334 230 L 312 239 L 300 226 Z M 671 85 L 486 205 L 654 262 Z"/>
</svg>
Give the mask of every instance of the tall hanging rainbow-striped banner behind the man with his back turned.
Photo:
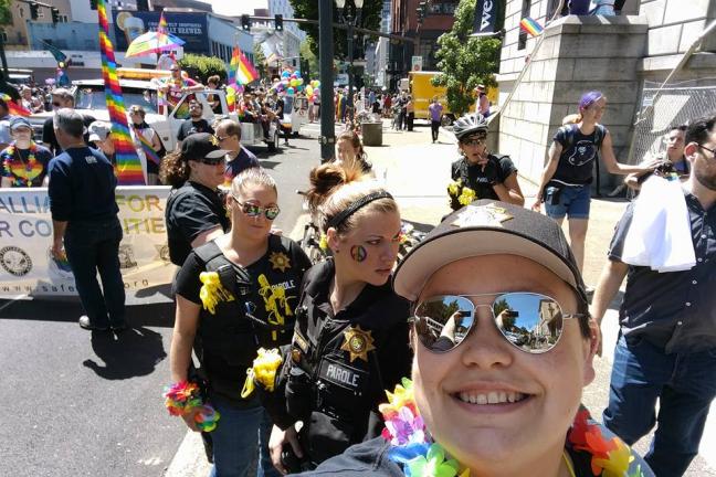
<svg viewBox="0 0 716 477">
<path fill-rule="evenodd" d="M 112 140 L 117 159 L 117 181 L 120 186 L 145 186 L 141 162 L 134 147 L 127 113 L 122 96 L 122 87 L 117 78 L 117 63 L 114 47 L 109 41 L 109 22 L 105 0 L 97 0 L 97 18 L 99 21 L 99 55 L 102 57 L 102 78 L 105 83 L 107 112 L 112 121 Z"/>
</svg>

